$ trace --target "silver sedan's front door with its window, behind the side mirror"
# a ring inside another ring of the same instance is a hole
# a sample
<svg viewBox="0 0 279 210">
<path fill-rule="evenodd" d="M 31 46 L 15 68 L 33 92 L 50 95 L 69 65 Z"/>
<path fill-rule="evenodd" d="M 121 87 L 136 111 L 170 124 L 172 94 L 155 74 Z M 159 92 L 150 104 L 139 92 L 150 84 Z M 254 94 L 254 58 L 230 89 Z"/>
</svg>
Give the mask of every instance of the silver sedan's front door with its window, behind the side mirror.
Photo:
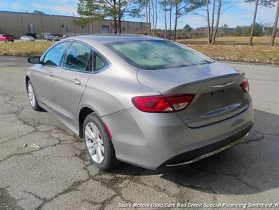
<svg viewBox="0 0 279 210">
<path fill-rule="evenodd" d="M 42 57 L 41 66 L 34 71 L 34 82 L 39 102 L 47 108 L 53 108 L 55 99 L 53 94 L 53 70 L 61 68 L 62 58 L 67 52 L 69 42 L 55 45 Z"/>
</svg>

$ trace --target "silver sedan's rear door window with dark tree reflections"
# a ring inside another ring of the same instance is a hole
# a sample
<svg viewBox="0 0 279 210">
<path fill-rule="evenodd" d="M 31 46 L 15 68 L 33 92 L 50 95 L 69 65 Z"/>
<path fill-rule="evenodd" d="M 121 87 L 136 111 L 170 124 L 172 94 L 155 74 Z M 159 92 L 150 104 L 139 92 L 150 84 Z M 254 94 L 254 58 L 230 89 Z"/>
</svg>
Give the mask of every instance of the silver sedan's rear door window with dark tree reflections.
<svg viewBox="0 0 279 210">
<path fill-rule="evenodd" d="M 90 71 L 91 49 L 82 43 L 72 43 L 64 59 L 64 67 L 77 71 Z"/>
</svg>

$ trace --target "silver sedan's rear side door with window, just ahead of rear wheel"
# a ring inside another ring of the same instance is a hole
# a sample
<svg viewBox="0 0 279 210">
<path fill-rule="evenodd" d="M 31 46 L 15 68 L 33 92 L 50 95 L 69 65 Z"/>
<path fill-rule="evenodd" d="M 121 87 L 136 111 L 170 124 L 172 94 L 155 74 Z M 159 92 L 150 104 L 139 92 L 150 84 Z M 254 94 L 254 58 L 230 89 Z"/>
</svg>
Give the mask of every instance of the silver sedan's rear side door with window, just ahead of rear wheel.
<svg viewBox="0 0 279 210">
<path fill-rule="evenodd" d="M 93 50 L 86 44 L 73 42 L 62 68 L 53 71 L 55 111 L 72 125 L 77 123 L 76 111 L 91 75 L 92 61 Z"/>
</svg>

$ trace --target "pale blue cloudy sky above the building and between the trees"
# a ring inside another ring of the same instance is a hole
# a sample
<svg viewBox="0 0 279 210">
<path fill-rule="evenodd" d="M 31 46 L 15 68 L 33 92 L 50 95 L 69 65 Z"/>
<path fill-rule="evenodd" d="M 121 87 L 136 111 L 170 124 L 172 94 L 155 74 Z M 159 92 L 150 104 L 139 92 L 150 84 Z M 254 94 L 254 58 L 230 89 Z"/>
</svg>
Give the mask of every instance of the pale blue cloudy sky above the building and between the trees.
<svg viewBox="0 0 279 210">
<path fill-rule="evenodd" d="M 47 14 L 53 15 L 76 15 L 78 0 L 0 0 L 0 10 L 15 11 L 15 12 L 29 12 L 34 10 L 41 10 Z M 220 25 L 229 25 L 229 27 L 236 27 L 237 25 L 250 25 L 252 22 L 252 15 L 254 11 L 254 3 L 245 3 L 244 0 L 230 1 L 229 5 L 224 5 L 222 11 Z M 275 18 L 275 7 L 265 8 L 259 7 L 257 22 L 273 23 Z M 163 28 L 162 12 L 158 18 L 158 27 Z M 191 27 L 204 27 L 206 25 L 203 17 L 204 11 L 200 11 L 199 15 L 186 15 L 179 19 L 178 28 L 189 24 Z M 124 20 L 145 21 L 145 18 L 124 18 Z M 1 20 L 0 20 L 1 22 Z"/>
</svg>

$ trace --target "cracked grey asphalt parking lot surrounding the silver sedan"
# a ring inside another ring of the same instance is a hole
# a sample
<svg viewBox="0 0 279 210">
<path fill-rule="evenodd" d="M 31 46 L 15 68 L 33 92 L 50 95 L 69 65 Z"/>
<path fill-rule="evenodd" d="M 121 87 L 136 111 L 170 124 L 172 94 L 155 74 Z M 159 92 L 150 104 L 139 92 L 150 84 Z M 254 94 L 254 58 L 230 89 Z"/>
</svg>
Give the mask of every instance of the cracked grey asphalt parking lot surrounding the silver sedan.
<svg viewBox="0 0 279 210">
<path fill-rule="evenodd" d="M 250 81 L 254 127 L 245 141 L 181 169 L 154 172 L 123 164 L 102 172 L 90 165 L 79 137 L 50 113 L 31 109 L 26 58 L 0 57 L 0 209 L 278 203 L 279 67 L 228 65 Z"/>
</svg>

